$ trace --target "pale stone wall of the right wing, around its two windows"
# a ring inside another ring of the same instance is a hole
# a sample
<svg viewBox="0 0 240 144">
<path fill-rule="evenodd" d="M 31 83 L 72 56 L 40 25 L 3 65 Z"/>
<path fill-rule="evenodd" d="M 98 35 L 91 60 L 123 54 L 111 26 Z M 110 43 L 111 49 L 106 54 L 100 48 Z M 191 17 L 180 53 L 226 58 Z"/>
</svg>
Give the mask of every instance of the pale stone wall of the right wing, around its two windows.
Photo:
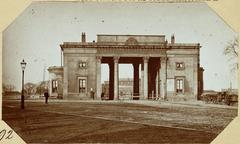
<svg viewBox="0 0 240 144">
<path fill-rule="evenodd" d="M 183 54 L 182 52 L 185 52 Z M 177 69 L 176 63 L 183 63 L 183 69 Z M 177 94 L 175 92 L 176 87 L 176 78 L 184 78 L 184 95 Z M 168 52 L 168 61 L 167 61 L 167 86 L 174 87 L 174 91 L 169 91 L 168 88 L 168 97 L 182 97 L 186 99 L 197 98 L 197 79 L 198 77 L 198 51 L 195 49 L 189 50 L 171 50 Z"/>
</svg>

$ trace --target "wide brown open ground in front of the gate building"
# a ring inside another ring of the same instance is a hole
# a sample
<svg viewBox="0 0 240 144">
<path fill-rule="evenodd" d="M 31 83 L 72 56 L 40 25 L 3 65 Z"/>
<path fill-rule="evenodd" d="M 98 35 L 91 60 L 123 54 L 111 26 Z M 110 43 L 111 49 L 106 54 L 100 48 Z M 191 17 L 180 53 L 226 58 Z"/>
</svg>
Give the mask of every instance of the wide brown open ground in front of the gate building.
<svg viewBox="0 0 240 144">
<path fill-rule="evenodd" d="M 209 143 L 237 108 L 151 101 L 3 101 L 3 120 L 26 142 Z"/>
</svg>

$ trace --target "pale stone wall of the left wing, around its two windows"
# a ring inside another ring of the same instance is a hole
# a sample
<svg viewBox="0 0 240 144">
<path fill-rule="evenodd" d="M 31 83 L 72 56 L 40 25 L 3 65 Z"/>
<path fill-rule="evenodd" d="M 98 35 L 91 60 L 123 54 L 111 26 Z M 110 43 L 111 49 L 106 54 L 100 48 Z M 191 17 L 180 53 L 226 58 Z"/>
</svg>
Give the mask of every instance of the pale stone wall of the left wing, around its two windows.
<svg viewBox="0 0 240 144">
<path fill-rule="evenodd" d="M 67 99 L 90 98 L 91 88 L 96 92 L 96 50 L 67 49 L 64 52 L 64 91 Z M 80 62 L 86 62 L 86 68 L 80 67 Z M 66 74 L 67 73 L 67 74 Z M 86 78 L 86 92 L 79 93 L 79 78 Z"/>
</svg>

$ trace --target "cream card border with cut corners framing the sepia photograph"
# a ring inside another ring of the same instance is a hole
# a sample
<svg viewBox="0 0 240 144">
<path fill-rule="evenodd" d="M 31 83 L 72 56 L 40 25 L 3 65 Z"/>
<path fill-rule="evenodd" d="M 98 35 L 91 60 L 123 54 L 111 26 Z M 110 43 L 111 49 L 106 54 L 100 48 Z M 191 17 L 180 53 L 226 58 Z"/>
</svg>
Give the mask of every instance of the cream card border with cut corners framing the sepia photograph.
<svg viewBox="0 0 240 144">
<path fill-rule="evenodd" d="M 17 1 L 1 1 L 0 2 L 0 54 L 1 54 L 1 62 L 2 62 L 2 39 L 3 39 L 3 31 L 9 24 L 13 22 L 13 20 L 19 16 L 33 1 L 36 0 L 17 0 Z M 42 0 L 46 2 L 47 0 Z M 58 2 L 59 0 L 51 0 L 54 2 Z M 63 0 L 60 0 L 63 2 Z M 60 2 L 59 1 L 59 2 Z M 73 0 L 64 0 L 64 1 L 73 1 Z M 181 3 L 181 2 L 203 2 L 204 0 L 75 0 L 74 2 L 142 2 L 142 3 L 161 3 L 161 2 L 171 2 L 171 3 Z M 216 14 L 221 17 L 226 24 L 228 24 L 234 31 L 240 34 L 240 1 L 239 0 L 206 0 L 205 1 L 208 6 L 216 12 Z M 240 38 L 238 37 L 240 41 Z M 239 62 L 238 58 L 238 62 Z M 2 64 L 0 67 L 0 74 L 2 74 Z M 239 79 L 239 71 L 238 74 L 238 82 Z M 2 83 L 2 77 L 0 78 L 0 82 Z M 238 85 L 239 90 L 239 85 Z M 2 93 L 2 87 L 0 88 L 0 92 Z M 239 95 L 238 91 L 238 95 Z M 240 101 L 240 97 L 238 96 L 238 101 Z M 240 141 L 240 137 L 238 134 L 240 133 L 240 104 L 238 103 L 238 116 L 211 142 L 212 144 L 218 143 L 237 143 Z M 2 95 L 0 96 L 0 131 L 3 129 L 12 130 L 3 120 L 2 120 Z M 3 143 L 24 143 L 24 141 L 13 132 L 12 139 L 6 139 L 4 141 L 0 141 Z"/>
</svg>

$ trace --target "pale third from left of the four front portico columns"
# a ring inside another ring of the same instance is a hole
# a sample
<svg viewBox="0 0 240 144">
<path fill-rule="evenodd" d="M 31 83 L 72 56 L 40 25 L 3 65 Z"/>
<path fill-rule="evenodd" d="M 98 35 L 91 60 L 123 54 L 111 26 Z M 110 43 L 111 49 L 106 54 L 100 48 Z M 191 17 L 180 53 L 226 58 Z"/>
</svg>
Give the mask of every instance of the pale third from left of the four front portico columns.
<svg viewBox="0 0 240 144">
<path fill-rule="evenodd" d="M 148 99 L 148 60 L 149 57 L 144 57 L 144 85 L 143 85 L 143 93 L 144 93 L 144 99 Z"/>
</svg>

